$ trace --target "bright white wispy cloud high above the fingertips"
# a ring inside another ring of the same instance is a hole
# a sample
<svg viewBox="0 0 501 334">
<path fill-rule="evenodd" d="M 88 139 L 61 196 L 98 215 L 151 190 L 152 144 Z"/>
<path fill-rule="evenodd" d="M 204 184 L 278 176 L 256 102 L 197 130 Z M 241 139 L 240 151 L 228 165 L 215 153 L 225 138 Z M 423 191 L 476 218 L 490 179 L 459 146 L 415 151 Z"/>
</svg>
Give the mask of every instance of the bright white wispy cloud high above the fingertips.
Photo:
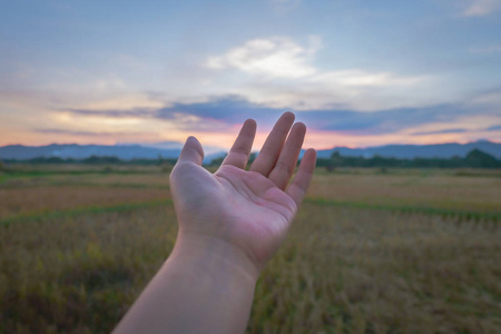
<svg viewBox="0 0 501 334">
<path fill-rule="evenodd" d="M 218 87 L 220 94 L 243 96 L 254 104 L 297 110 L 372 111 L 430 105 L 430 96 L 423 92 L 433 94 L 431 77 L 321 69 L 314 66 L 321 45 L 320 37 L 311 37 L 307 47 L 287 37 L 247 41 L 204 62 L 216 73 L 207 89 Z M 213 90 L 213 95 L 218 94 Z M 434 104 L 443 99 L 442 95 Z"/>
</svg>

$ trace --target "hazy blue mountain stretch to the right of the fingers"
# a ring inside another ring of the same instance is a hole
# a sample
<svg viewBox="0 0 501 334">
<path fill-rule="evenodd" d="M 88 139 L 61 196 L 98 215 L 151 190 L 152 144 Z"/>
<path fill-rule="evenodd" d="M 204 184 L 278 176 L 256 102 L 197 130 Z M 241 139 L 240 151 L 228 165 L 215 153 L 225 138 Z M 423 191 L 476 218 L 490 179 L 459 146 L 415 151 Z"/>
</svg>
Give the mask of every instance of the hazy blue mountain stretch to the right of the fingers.
<svg viewBox="0 0 501 334">
<path fill-rule="evenodd" d="M 487 140 L 469 144 L 385 145 L 366 148 L 334 147 L 332 149 L 320 150 L 317 154 L 320 158 L 328 158 L 334 151 L 338 151 L 342 156 L 364 158 L 371 158 L 375 155 L 399 159 L 452 158 L 453 156 L 464 158 L 473 149 L 479 149 L 501 159 L 501 143 Z"/>
</svg>

